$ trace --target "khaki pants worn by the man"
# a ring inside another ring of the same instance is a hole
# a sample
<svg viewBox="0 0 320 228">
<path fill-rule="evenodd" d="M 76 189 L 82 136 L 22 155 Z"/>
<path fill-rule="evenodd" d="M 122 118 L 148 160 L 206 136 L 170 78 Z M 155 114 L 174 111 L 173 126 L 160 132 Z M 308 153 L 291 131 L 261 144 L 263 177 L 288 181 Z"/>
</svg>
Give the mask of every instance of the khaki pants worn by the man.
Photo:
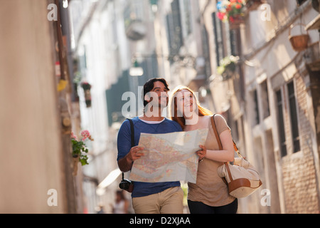
<svg viewBox="0 0 320 228">
<path fill-rule="evenodd" d="M 183 190 L 171 187 L 146 197 L 133 197 L 132 206 L 136 214 L 182 214 Z"/>
</svg>

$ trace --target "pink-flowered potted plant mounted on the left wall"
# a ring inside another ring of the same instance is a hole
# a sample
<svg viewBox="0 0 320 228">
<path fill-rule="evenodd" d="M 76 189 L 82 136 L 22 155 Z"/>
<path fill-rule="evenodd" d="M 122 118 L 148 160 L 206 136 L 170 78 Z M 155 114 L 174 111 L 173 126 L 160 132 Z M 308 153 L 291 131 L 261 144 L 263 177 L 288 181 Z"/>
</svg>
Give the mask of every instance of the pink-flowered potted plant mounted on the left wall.
<svg viewBox="0 0 320 228">
<path fill-rule="evenodd" d="M 87 140 L 93 141 L 92 136 L 90 135 L 90 132 L 88 130 L 82 130 L 81 138 L 78 140 L 77 136 L 74 133 L 71 133 L 71 144 L 73 146 L 73 175 L 77 175 L 78 173 L 78 163 L 80 162 L 81 165 L 88 165 L 87 162 L 87 152 L 89 150 L 87 149 L 87 146 L 85 145 L 85 142 Z"/>
</svg>

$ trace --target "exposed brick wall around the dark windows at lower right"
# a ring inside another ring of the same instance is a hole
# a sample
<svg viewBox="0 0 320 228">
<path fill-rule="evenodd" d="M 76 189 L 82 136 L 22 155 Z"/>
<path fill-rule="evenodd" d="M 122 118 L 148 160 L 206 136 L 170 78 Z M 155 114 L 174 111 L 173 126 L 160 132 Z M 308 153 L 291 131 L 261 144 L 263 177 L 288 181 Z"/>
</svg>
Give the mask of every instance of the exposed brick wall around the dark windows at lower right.
<svg viewBox="0 0 320 228">
<path fill-rule="evenodd" d="M 287 137 L 287 156 L 282 157 L 282 175 L 286 213 L 319 213 L 316 169 L 309 132 L 306 89 L 303 76 L 294 77 L 300 136 L 300 152 L 293 153 L 292 133 L 287 93 L 284 93 L 284 122 Z M 287 90 L 286 90 L 287 91 Z"/>
</svg>

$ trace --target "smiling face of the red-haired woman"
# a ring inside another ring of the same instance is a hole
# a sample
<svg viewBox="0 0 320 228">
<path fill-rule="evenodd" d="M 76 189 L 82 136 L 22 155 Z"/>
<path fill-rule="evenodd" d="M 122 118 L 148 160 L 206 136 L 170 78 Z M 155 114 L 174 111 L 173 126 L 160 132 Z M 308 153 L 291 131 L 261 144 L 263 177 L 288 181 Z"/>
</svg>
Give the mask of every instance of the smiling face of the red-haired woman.
<svg viewBox="0 0 320 228">
<path fill-rule="evenodd" d="M 178 114 L 182 113 L 184 118 L 190 118 L 196 110 L 196 99 L 189 90 L 181 90 L 176 93 Z"/>
</svg>

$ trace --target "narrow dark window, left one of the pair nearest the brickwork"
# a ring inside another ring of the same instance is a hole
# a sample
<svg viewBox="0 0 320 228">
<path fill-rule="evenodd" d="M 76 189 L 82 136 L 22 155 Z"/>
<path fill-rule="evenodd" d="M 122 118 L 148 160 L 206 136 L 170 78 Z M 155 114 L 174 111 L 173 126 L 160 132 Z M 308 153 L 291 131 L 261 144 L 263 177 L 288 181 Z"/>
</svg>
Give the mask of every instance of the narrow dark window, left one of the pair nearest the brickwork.
<svg viewBox="0 0 320 228">
<path fill-rule="evenodd" d="M 283 100 L 281 95 L 281 90 L 277 90 L 277 110 L 278 110 L 278 130 L 279 130 L 279 143 L 280 143 L 280 154 L 281 157 L 287 155 L 287 143 L 286 143 L 286 135 L 284 131 L 284 118 L 283 118 Z"/>
</svg>

